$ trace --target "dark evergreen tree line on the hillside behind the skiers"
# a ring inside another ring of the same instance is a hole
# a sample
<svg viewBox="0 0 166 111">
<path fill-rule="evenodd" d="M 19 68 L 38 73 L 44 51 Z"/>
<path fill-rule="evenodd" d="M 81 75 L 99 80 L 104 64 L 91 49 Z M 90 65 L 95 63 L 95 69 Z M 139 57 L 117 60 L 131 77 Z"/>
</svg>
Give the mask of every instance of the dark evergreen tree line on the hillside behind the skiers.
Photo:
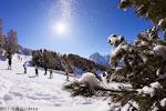
<svg viewBox="0 0 166 111">
<path fill-rule="evenodd" d="M 32 63 L 44 69 L 62 70 L 73 73 L 75 68 L 83 71 L 104 71 L 106 68 L 76 54 L 60 54 L 53 51 L 35 50 L 32 52 Z"/>
</svg>

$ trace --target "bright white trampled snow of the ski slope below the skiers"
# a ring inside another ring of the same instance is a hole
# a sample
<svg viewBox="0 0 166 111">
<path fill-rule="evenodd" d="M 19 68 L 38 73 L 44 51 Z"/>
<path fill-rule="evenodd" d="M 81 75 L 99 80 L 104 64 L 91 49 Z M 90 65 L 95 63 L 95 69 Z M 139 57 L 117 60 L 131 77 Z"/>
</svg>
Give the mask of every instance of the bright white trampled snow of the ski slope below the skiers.
<svg viewBox="0 0 166 111">
<path fill-rule="evenodd" d="M 12 70 L 7 70 L 8 61 L 0 61 L 0 107 L 34 107 L 38 111 L 106 111 L 107 103 L 102 99 L 71 98 L 70 92 L 63 90 L 65 75 L 53 73 L 53 79 L 43 75 L 39 70 L 39 77 L 34 77 L 34 68 L 28 67 L 28 73 L 23 73 L 24 61 L 31 57 L 24 57 L 19 61 L 17 54 L 12 59 Z M 73 78 L 70 78 L 72 80 Z M 103 107 L 104 105 L 104 107 Z M 50 109 L 50 110 L 48 110 Z"/>
</svg>

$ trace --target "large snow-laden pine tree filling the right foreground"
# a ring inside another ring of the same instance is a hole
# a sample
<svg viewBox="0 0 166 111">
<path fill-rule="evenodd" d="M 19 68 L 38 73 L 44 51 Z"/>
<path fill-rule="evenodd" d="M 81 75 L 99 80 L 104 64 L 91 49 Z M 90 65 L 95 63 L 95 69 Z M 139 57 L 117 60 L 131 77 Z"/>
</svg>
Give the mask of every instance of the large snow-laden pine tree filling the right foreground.
<svg viewBox="0 0 166 111">
<path fill-rule="evenodd" d="M 154 27 L 141 32 L 134 44 L 126 42 L 123 36 L 108 37 L 108 43 L 115 47 L 110 63 L 117 67 L 122 60 L 125 65 L 115 74 L 125 77 L 132 84 L 129 90 L 121 88 L 121 92 L 112 92 L 113 102 L 128 104 L 133 110 L 166 110 L 165 6 L 165 0 L 121 0 L 121 9 L 134 7 L 137 17 L 149 19 Z M 163 31 L 164 40 L 158 37 L 159 31 Z"/>
</svg>

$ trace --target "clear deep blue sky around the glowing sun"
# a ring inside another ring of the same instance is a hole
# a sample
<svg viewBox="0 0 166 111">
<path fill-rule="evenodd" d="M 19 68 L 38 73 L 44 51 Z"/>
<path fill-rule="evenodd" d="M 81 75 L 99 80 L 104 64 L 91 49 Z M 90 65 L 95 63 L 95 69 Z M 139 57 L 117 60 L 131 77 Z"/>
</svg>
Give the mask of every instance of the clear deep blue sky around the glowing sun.
<svg viewBox="0 0 166 111">
<path fill-rule="evenodd" d="M 94 52 L 111 54 L 107 44 L 112 33 L 123 34 L 133 42 L 136 36 L 152 27 L 138 19 L 134 10 L 118 9 L 120 0 L 0 0 L 3 34 L 18 31 L 18 42 L 24 48 L 48 49 L 89 58 Z M 54 30 L 58 22 L 65 31 Z"/>
</svg>

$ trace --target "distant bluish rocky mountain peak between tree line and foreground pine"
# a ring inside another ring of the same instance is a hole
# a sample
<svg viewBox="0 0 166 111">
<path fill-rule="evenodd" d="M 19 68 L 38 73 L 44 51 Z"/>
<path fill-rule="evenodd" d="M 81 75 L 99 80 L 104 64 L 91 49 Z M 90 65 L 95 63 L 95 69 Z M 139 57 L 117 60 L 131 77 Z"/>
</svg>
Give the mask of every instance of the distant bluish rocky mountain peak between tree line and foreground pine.
<svg viewBox="0 0 166 111">
<path fill-rule="evenodd" d="M 110 62 L 110 56 L 108 54 L 107 56 L 101 56 L 98 52 L 95 52 L 95 53 L 91 54 L 89 59 L 94 61 L 95 63 L 104 64 L 105 67 L 108 67 L 108 62 Z"/>
</svg>

